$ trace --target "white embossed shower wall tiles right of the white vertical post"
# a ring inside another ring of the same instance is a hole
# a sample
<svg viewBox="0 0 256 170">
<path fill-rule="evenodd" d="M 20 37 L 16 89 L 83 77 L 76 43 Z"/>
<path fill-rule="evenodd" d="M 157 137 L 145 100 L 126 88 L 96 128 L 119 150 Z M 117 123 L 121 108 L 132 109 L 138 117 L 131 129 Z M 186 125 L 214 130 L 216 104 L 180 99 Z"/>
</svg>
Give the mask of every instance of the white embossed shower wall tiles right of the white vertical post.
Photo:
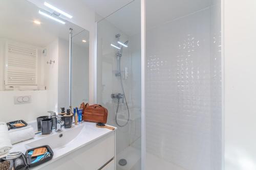
<svg viewBox="0 0 256 170">
<path fill-rule="evenodd" d="M 188 170 L 215 169 L 221 151 L 210 16 L 208 8 L 146 32 L 146 151 Z"/>
</svg>

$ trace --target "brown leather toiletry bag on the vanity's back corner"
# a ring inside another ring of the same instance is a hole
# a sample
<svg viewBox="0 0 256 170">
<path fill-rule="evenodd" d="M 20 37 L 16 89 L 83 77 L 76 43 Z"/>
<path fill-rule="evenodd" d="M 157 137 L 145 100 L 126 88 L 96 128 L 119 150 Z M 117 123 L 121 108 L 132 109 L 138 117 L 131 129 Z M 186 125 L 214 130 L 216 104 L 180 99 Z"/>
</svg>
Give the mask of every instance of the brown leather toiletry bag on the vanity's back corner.
<svg viewBox="0 0 256 170">
<path fill-rule="evenodd" d="M 108 110 L 101 105 L 89 106 L 88 103 L 86 105 L 82 103 L 80 109 L 83 109 L 82 120 L 84 121 L 105 124 L 108 119 Z"/>
</svg>

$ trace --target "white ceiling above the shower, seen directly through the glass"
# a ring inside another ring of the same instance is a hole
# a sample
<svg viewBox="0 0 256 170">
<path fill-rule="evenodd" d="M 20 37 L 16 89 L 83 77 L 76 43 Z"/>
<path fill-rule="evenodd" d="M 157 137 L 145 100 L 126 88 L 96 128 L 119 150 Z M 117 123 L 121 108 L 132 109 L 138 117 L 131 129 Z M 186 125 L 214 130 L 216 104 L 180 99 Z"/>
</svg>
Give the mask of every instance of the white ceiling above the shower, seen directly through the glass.
<svg viewBox="0 0 256 170">
<path fill-rule="evenodd" d="M 140 0 L 83 1 L 103 18 L 108 16 L 106 19 L 127 35 L 140 31 Z M 130 2 L 130 5 L 125 6 Z M 207 8 L 210 2 L 211 0 L 146 0 L 146 29 Z M 125 7 L 120 9 L 123 6 Z M 112 14 L 113 12 L 115 13 Z"/>
</svg>

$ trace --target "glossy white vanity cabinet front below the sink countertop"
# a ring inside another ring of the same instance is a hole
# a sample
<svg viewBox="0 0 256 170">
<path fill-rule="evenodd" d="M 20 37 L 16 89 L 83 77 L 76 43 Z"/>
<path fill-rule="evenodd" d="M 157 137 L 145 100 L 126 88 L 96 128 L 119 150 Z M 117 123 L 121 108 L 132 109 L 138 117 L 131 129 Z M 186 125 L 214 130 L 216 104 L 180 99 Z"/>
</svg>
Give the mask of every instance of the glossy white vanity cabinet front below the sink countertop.
<svg viewBox="0 0 256 170">
<path fill-rule="evenodd" d="M 115 131 L 99 137 L 72 153 L 63 155 L 38 169 L 41 170 L 114 170 Z"/>
</svg>

